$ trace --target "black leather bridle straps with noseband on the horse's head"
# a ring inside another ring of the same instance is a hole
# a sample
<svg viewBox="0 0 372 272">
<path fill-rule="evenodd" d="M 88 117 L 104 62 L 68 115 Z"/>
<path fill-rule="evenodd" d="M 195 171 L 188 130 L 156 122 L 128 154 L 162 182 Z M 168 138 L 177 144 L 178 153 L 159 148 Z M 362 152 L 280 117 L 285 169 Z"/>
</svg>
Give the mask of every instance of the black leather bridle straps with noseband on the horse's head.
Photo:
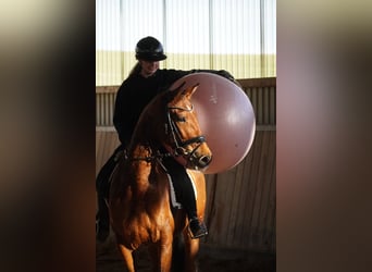
<svg viewBox="0 0 372 272">
<path fill-rule="evenodd" d="M 206 141 L 206 137 L 203 135 L 200 135 L 200 136 L 196 136 L 194 138 L 187 139 L 187 140 L 183 140 L 181 137 L 178 126 L 171 118 L 171 110 L 181 110 L 181 111 L 191 112 L 194 110 L 194 106 L 191 104 L 190 109 L 168 106 L 166 107 L 168 123 L 165 124 L 165 134 L 171 135 L 171 137 L 173 138 L 173 143 L 174 143 L 173 154 L 175 157 L 185 156 L 188 160 L 193 161 L 194 153 L 201 146 L 201 144 Z M 186 120 L 183 119 L 179 121 L 185 122 Z M 190 152 L 187 151 L 185 147 L 193 145 L 193 144 L 198 144 L 198 145 Z"/>
</svg>

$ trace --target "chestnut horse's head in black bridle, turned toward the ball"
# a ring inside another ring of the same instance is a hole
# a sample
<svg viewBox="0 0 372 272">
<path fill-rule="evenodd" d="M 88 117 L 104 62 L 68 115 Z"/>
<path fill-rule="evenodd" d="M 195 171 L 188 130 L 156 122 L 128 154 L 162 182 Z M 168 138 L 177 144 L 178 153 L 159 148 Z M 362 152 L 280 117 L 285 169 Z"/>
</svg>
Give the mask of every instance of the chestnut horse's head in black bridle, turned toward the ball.
<svg viewBox="0 0 372 272">
<path fill-rule="evenodd" d="M 165 147 L 176 160 L 190 169 L 204 169 L 212 160 L 197 114 L 190 101 L 199 85 L 183 89 L 183 85 L 169 91 L 166 103 Z"/>
</svg>

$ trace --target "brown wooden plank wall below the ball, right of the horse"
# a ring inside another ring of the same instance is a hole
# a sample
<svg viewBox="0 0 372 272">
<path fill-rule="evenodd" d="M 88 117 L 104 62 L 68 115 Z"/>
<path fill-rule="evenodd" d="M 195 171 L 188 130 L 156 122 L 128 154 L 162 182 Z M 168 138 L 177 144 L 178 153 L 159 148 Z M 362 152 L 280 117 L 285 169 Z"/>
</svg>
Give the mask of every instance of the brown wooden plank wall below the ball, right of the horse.
<svg viewBox="0 0 372 272">
<path fill-rule="evenodd" d="M 257 132 L 248 156 L 236 168 L 207 176 L 203 243 L 215 247 L 275 251 L 276 132 Z"/>
</svg>

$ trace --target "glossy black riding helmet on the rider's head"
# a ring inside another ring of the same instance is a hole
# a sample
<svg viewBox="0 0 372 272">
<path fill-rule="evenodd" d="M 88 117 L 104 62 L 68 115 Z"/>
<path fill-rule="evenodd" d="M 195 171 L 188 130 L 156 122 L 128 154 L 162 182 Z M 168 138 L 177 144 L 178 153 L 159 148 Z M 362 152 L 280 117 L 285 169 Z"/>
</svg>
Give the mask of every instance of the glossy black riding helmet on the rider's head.
<svg viewBox="0 0 372 272">
<path fill-rule="evenodd" d="M 163 61 L 166 59 L 166 55 L 160 41 L 148 36 L 137 42 L 136 59 L 144 61 Z"/>
</svg>

